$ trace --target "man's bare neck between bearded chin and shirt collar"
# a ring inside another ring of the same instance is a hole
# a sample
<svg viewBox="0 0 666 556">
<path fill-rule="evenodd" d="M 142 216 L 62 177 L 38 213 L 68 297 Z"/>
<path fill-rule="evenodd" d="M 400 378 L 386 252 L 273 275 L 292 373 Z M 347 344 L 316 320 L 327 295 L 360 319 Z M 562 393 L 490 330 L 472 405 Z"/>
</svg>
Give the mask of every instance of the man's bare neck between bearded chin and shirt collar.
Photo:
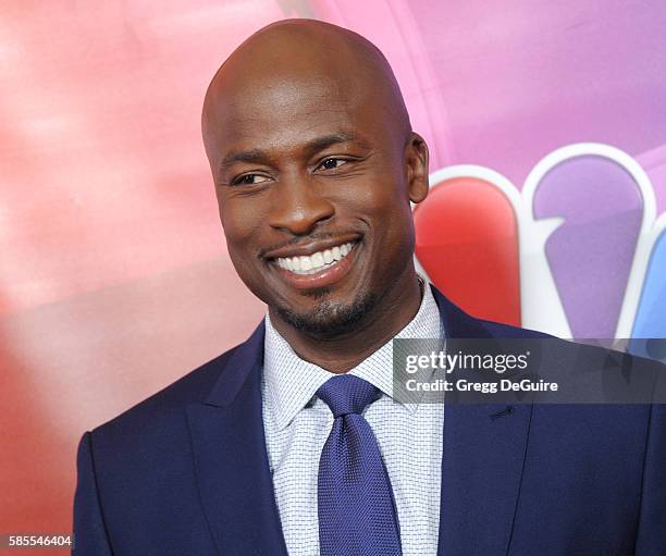
<svg viewBox="0 0 666 556">
<path fill-rule="evenodd" d="M 393 338 L 418 312 L 421 285 L 414 268 L 410 270 L 371 313 L 344 334 L 334 337 L 311 335 L 275 319 L 272 312 L 271 322 L 298 357 L 330 372 L 345 373 Z"/>
</svg>

